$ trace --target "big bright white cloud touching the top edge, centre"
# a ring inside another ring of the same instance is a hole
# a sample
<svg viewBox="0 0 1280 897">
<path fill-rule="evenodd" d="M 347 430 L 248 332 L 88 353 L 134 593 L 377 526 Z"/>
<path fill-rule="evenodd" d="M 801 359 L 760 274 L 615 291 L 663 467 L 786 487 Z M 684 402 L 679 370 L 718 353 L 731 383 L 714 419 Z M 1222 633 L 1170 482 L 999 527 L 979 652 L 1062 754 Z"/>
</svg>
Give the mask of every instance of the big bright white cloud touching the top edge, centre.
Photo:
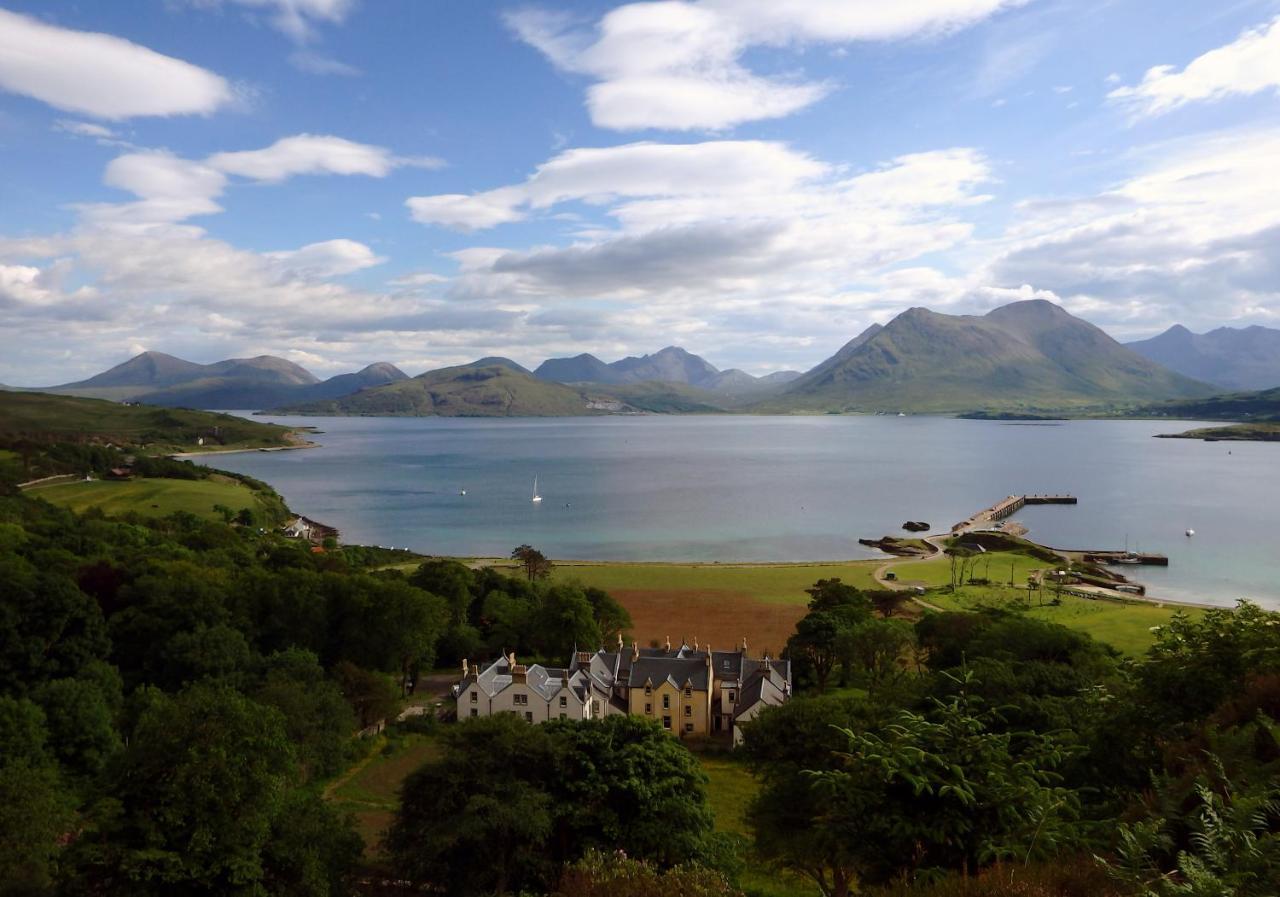
<svg viewBox="0 0 1280 897">
<path fill-rule="evenodd" d="M 594 83 L 591 120 L 614 131 L 724 129 L 790 115 L 829 84 L 762 75 L 741 63 L 753 46 L 845 44 L 936 36 L 1025 0 L 658 0 L 632 3 L 585 26 L 525 9 L 508 26 L 554 65 Z"/>
</svg>

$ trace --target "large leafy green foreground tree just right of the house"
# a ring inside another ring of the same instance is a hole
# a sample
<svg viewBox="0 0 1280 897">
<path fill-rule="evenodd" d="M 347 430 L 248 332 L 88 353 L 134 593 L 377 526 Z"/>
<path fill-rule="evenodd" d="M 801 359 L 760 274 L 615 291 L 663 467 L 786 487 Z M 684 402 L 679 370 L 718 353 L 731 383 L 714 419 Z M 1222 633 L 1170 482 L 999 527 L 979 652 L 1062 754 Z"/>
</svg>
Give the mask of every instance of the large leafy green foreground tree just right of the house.
<svg viewBox="0 0 1280 897">
<path fill-rule="evenodd" d="M 1078 798 L 1053 772 L 1062 747 L 1051 736 L 992 732 L 963 694 L 844 736 L 837 766 L 810 773 L 823 864 L 800 869 L 829 897 L 854 880 L 1039 859 L 1079 837 Z"/>
</svg>

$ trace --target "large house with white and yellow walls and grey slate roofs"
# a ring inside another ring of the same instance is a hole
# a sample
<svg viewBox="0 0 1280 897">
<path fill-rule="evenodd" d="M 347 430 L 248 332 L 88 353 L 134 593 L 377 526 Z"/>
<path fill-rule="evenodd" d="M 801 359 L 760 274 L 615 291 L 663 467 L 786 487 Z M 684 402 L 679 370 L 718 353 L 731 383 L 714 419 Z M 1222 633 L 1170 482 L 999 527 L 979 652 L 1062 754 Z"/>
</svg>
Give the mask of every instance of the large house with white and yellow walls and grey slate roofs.
<svg viewBox="0 0 1280 897">
<path fill-rule="evenodd" d="M 681 737 L 732 734 L 767 706 L 791 697 L 791 663 L 753 659 L 746 641 L 732 651 L 680 645 L 577 651 L 567 667 L 525 665 L 500 655 L 488 665 L 462 662 L 454 686 L 458 719 L 513 713 L 530 723 L 599 719 L 630 713 Z"/>
</svg>

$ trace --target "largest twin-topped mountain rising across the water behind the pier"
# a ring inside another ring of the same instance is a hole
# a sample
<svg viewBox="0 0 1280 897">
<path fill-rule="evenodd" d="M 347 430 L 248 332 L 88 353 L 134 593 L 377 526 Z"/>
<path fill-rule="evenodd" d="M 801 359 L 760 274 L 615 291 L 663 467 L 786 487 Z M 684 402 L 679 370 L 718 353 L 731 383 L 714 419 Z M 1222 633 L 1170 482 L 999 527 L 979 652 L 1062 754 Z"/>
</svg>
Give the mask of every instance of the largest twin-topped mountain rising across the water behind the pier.
<svg viewBox="0 0 1280 897">
<path fill-rule="evenodd" d="M 1210 393 L 1059 306 L 1028 301 L 982 316 L 910 308 L 754 409 L 1073 408 Z"/>
</svg>

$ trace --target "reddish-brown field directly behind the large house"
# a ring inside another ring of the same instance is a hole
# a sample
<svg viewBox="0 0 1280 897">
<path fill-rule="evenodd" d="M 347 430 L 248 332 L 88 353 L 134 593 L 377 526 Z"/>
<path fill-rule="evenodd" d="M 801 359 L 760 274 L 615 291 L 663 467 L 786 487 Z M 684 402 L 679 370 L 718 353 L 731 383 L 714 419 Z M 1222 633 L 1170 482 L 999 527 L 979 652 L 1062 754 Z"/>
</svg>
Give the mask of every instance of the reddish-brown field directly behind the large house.
<svg viewBox="0 0 1280 897">
<path fill-rule="evenodd" d="M 630 613 L 632 637 L 641 645 L 696 639 L 726 650 L 741 645 L 751 654 L 777 655 L 805 615 L 804 604 L 760 601 L 745 592 L 718 589 L 614 589 L 613 598 Z"/>
</svg>

